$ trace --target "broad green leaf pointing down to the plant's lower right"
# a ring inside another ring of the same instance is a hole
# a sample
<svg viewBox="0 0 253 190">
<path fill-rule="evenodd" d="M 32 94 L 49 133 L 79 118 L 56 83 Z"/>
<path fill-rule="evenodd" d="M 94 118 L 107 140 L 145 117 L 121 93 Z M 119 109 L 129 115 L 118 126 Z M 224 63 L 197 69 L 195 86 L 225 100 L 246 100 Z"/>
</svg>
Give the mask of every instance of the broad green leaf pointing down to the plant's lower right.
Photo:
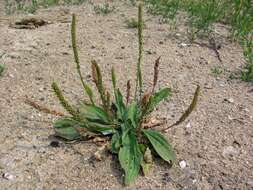
<svg viewBox="0 0 253 190">
<path fill-rule="evenodd" d="M 143 134 L 147 137 L 147 139 L 152 144 L 156 153 L 165 161 L 169 163 L 174 163 L 176 156 L 173 151 L 173 148 L 168 143 L 163 135 L 154 130 L 142 129 Z"/>
</svg>

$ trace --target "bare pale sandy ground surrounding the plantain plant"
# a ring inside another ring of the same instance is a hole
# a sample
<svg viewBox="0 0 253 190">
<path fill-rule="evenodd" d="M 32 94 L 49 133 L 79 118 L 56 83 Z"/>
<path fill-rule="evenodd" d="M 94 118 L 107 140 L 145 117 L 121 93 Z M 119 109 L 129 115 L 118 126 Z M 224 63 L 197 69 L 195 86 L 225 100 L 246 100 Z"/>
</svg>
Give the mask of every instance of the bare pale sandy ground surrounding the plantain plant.
<svg viewBox="0 0 253 190">
<path fill-rule="evenodd" d="M 78 18 L 85 79 L 91 81 L 92 58 L 103 69 L 108 86 L 111 66 L 118 71 L 122 88 L 127 79 L 134 78 L 137 31 L 128 29 L 124 21 L 136 17 L 137 9 L 123 2 L 113 5 L 116 10 L 106 16 L 96 15 L 90 4 L 40 10 L 36 16 L 51 23 L 34 30 L 10 28 L 9 23 L 25 15 L 7 17 L 1 8 L 0 53 L 5 55 L 0 61 L 7 70 L 0 78 L 0 189 L 253 189 L 252 85 L 228 80 L 230 72 L 245 62 L 239 45 L 224 37 L 224 26 L 217 28 L 223 61 L 219 63 L 209 48 L 182 47 L 182 42 L 188 43 L 184 24 L 174 32 L 168 24 L 159 24 L 158 18 L 145 15 L 145 88 L 151 87 L 154 60 L 162 56 L 158 88 L 173 90 L 172 98 L 155 115 L 166 117 L 168 125 L 173 123 L 190 104 L 196 85 L 201 86 L 197 109 L 167 133 L 178 159 L 173 168 L 157 161 L 149 176 L 123 187 L 114 156 L 108 154 L 101 162 L 90 159 L 96 145 L 60 142 L 58 148 L 49 146 L 56 118 L 37 112 L 23 100 L 28 96 L 63 111 L 50 89 L 53 80 L 73 102 L 82 98 L 70 46 L 72 12 Z M 224 70 L 218 77 L 211 74 L 214 66 Z M 187 163 L 184 169 L 178 165 L 182 160 Z M 5 179 L 6 174 L 13 178 Z"/>
</svg>

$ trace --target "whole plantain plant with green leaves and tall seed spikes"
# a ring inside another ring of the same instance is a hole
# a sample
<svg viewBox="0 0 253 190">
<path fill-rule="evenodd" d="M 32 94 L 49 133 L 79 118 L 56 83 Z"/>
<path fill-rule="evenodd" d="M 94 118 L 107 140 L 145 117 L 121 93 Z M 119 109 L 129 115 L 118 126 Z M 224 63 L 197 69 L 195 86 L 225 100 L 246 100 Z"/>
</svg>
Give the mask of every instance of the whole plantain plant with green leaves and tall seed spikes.
<svg viewBox="0 0 253 190">
<path fill-rule="evenodd" d="M 114 68 L 111 70 L 112 92 L 109 92 L 104 85 L 102 72 L 95 60 L 91 61 L 92 79 L 98 91 L 101 101 L 94 101 L 94 93 L 89 84 L 84 81 L 80 70 L 80 63 L 76 43 L 76 17 L 72 15 L 72 47 L 76 63 L 77 73 L 80 77 L 84 93 L 88 101 L 80 103 L 78 107 L 72 106 L 63 96 L 62 91 L 56 82 L 52 83 L 52 89 L 59 99 L 61 105 L 68 112 L 69 116 L 63 116 L 53 124 L 55 134 L 66 140 L 81 139 L 86 132 L 109 137 L 108 148 L 112 154 L 117 154 L 119 163 L 124 170 L 124 184 L 128 185 L 135 180 L 142 170 L 146 175 L 153 164 L 154 157 L 160 157 L 169 164 L 176 160 L 172 146 L 167 139 L 155 130 L 147 126 L 149 116 L 155 107 L 164 99 L 171 96 L 169 88 L 163 88 L 155 92 L 158 81 L 158 58 L 154 66 L 153 87 L 150 91 L 143 93 L 143 81 L 141 66 L 143 62 L 143 10 L 142 3 L 138 9 L 138 39 L 139 59 L 136 64 L 136 86 L 135 97 L 130 100 L 130 81 L 127 82 L 126 98 L 117 86 L 117 77 Z M 190 107 L 183 116 L 173 125 L 175 126 L 186 119 L 194 109 L 199 87 L 197 88 Z M 33 102 L 27 101 L 31 106 L 46 113 L 56 113 L 47 108 L 41 107 Z M 164 128 L 166 131 L 169 127 Z"/>
</svg>

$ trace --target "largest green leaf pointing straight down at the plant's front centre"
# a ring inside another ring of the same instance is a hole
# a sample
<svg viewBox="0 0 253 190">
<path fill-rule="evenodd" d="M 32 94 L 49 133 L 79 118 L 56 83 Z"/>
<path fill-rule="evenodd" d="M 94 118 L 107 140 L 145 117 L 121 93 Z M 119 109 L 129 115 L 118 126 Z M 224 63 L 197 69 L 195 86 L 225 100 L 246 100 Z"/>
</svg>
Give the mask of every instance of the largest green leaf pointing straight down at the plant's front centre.
<svg viewBox="0 0 253 190">
<path fill-rule="evenodd" d="M 119 150 L 119 162 L 125 172 L 124 183 L 129 185 L 139 174 L 142 154 L 132 130 L 122 139 L 122 145 Z"/>
</svg>

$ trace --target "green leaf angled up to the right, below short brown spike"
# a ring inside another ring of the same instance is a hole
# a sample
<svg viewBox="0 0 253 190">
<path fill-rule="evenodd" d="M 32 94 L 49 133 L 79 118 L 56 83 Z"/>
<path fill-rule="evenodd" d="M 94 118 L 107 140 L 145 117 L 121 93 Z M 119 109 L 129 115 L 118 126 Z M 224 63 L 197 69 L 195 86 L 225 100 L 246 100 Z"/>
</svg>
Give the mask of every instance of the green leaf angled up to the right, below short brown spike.
<svg viewBox="0 0 253 190">
<path fill-rule="evenodd" d="M 151 113 L 154 108 L 165 98 L 170 96 L 170 89 L 169 88 L 164 88 L 160 90 L 159 92 L 155 93 L 153 96 L 149 98 L 149 102 L 147 106 L 143 110 L 143 115 L 147 115 Z"/>
</svg>

